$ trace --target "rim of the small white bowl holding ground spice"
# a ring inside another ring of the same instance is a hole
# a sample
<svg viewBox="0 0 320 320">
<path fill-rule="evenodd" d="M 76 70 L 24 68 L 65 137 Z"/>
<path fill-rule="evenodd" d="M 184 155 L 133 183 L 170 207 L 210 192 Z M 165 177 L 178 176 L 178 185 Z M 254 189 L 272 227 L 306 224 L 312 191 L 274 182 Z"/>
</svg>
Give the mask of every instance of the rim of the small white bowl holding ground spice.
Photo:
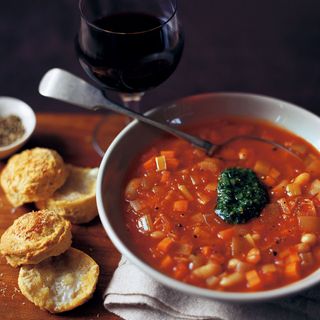
<svg viewBox="0 0 320 320">
<path fill-rule="evenodd" d="M 14 149 L 15 147 L 18 147 L 21 143 L 27 141 L 30 138 L 30 136 L 32 135 L 32 133 L 34 132 L 34 129 L 36 127 L 37 119 L 36 119 L 35 112 L 30 107 L 30 105 L 28 105 L 26 102 L 24 102 L 18 98 L 9 97 L 9 96 L 0 96 L 0 104 L 1 104 L 2 100 L 7 100 L 12 105 L 17 104 L 17 103 L 20 104 L 21 106 L 23 106 L 23 108 L 28 110 L 30 115 L 32 116 L 32 123 L 31 123 L 31 127 L 29 130 L 27 130 L 27 128 L 24 128 L 25 133 L 19 139 L 15 140 L 14 142 L 12 142 L 6 146 L 0 146 L 0 152 L 5 152 L 5 151 L 9 151 L 11 149 Z M 12 114 L 19 116 L 21 121 L 23 122 L 23 118 L 19 115 L 19 113 L 13 112 Z"/>
</svg>

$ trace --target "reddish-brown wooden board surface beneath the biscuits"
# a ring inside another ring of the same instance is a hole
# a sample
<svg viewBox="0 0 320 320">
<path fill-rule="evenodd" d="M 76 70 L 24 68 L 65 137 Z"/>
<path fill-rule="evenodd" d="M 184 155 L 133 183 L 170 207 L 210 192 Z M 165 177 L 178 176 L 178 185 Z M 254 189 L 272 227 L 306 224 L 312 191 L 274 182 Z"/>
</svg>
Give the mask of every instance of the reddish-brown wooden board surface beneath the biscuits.
<svg viewBox="0 0 320 320">
<path fill-rule="evenodd" d="M 118 115 L 97 114 L 37 114 L 37 127 L 34 135 L 23 148 L 36 146 L 57 150 L 65 162 L 79 166 L 98 167 L 101 158 L 92 147 L 92 133 L 102 117 L 109 123 L 106 142 L 110 143 L 125 124 Z M 1 168 L 6 161 L 1 161 Z M 16 210 L 10 206 L 0 191 L 0 235 L 14 219 L 33 210 L 32 205 Z M 84 305 L 62 314 L 50 314 L 29 302 L 18 289 L 19 268 L 12 268 L 0 258 L 0 319 L 119 319 L 103 308 L 102 295 L 120 259 L 120 255 L 106 235 L 99 218 L 84 225 L 72 228 L 73 246 L 89 254 L 100 266 L 100 277 L 95 294 Z"/>
</svg>

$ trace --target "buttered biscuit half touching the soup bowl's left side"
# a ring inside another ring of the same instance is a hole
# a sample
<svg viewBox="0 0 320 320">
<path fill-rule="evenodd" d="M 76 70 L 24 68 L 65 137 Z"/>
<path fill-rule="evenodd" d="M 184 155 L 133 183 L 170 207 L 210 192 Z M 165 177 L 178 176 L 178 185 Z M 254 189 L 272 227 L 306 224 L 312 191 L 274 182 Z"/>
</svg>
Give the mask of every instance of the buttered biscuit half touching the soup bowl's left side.
<svg viewBox="0 0 320 320">
<path fill-rule="evenodd" d="M 71 223 L 91 221 L 98 215 L 96 179 L 98 168 L 68 165 L 69 176 L 65 184 L 49 199 L 36 202 L 38 209 L 57 210 Z"/>
</svg>

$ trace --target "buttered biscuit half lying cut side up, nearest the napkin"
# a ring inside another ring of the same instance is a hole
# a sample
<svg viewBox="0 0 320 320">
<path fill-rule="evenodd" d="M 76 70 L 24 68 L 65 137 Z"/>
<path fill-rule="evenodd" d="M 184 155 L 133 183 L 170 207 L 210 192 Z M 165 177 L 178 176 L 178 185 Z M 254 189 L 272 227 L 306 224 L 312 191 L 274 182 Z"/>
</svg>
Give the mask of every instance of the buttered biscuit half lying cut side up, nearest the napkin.
<svg viewBox="0 0 320 320">
<path fill-rule="evenodd" d="M 99 266 L 84 252 L 70 248 L 35 266 L 23 266 L 18 285 L 36 306 L 51 313 L 80 306 L 91 298 L 99 276 Z"/>
</svg>

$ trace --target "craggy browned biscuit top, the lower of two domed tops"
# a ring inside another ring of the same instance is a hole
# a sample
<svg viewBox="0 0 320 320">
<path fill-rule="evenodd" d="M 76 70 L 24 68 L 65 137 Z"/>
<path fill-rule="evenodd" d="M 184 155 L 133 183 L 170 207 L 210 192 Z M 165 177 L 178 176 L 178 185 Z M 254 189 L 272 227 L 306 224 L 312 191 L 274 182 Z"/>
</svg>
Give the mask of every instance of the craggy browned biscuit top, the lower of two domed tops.
<svg viewBox="0 0 320 320">
<path fill-rule="evenodd" d="M 0 252 L 13 267 L 36 264 L 66 251 L 71 238 L 68 220 L 49 210 L 33 211 L 16 219 L 3 233 Z"/>
</svg>

